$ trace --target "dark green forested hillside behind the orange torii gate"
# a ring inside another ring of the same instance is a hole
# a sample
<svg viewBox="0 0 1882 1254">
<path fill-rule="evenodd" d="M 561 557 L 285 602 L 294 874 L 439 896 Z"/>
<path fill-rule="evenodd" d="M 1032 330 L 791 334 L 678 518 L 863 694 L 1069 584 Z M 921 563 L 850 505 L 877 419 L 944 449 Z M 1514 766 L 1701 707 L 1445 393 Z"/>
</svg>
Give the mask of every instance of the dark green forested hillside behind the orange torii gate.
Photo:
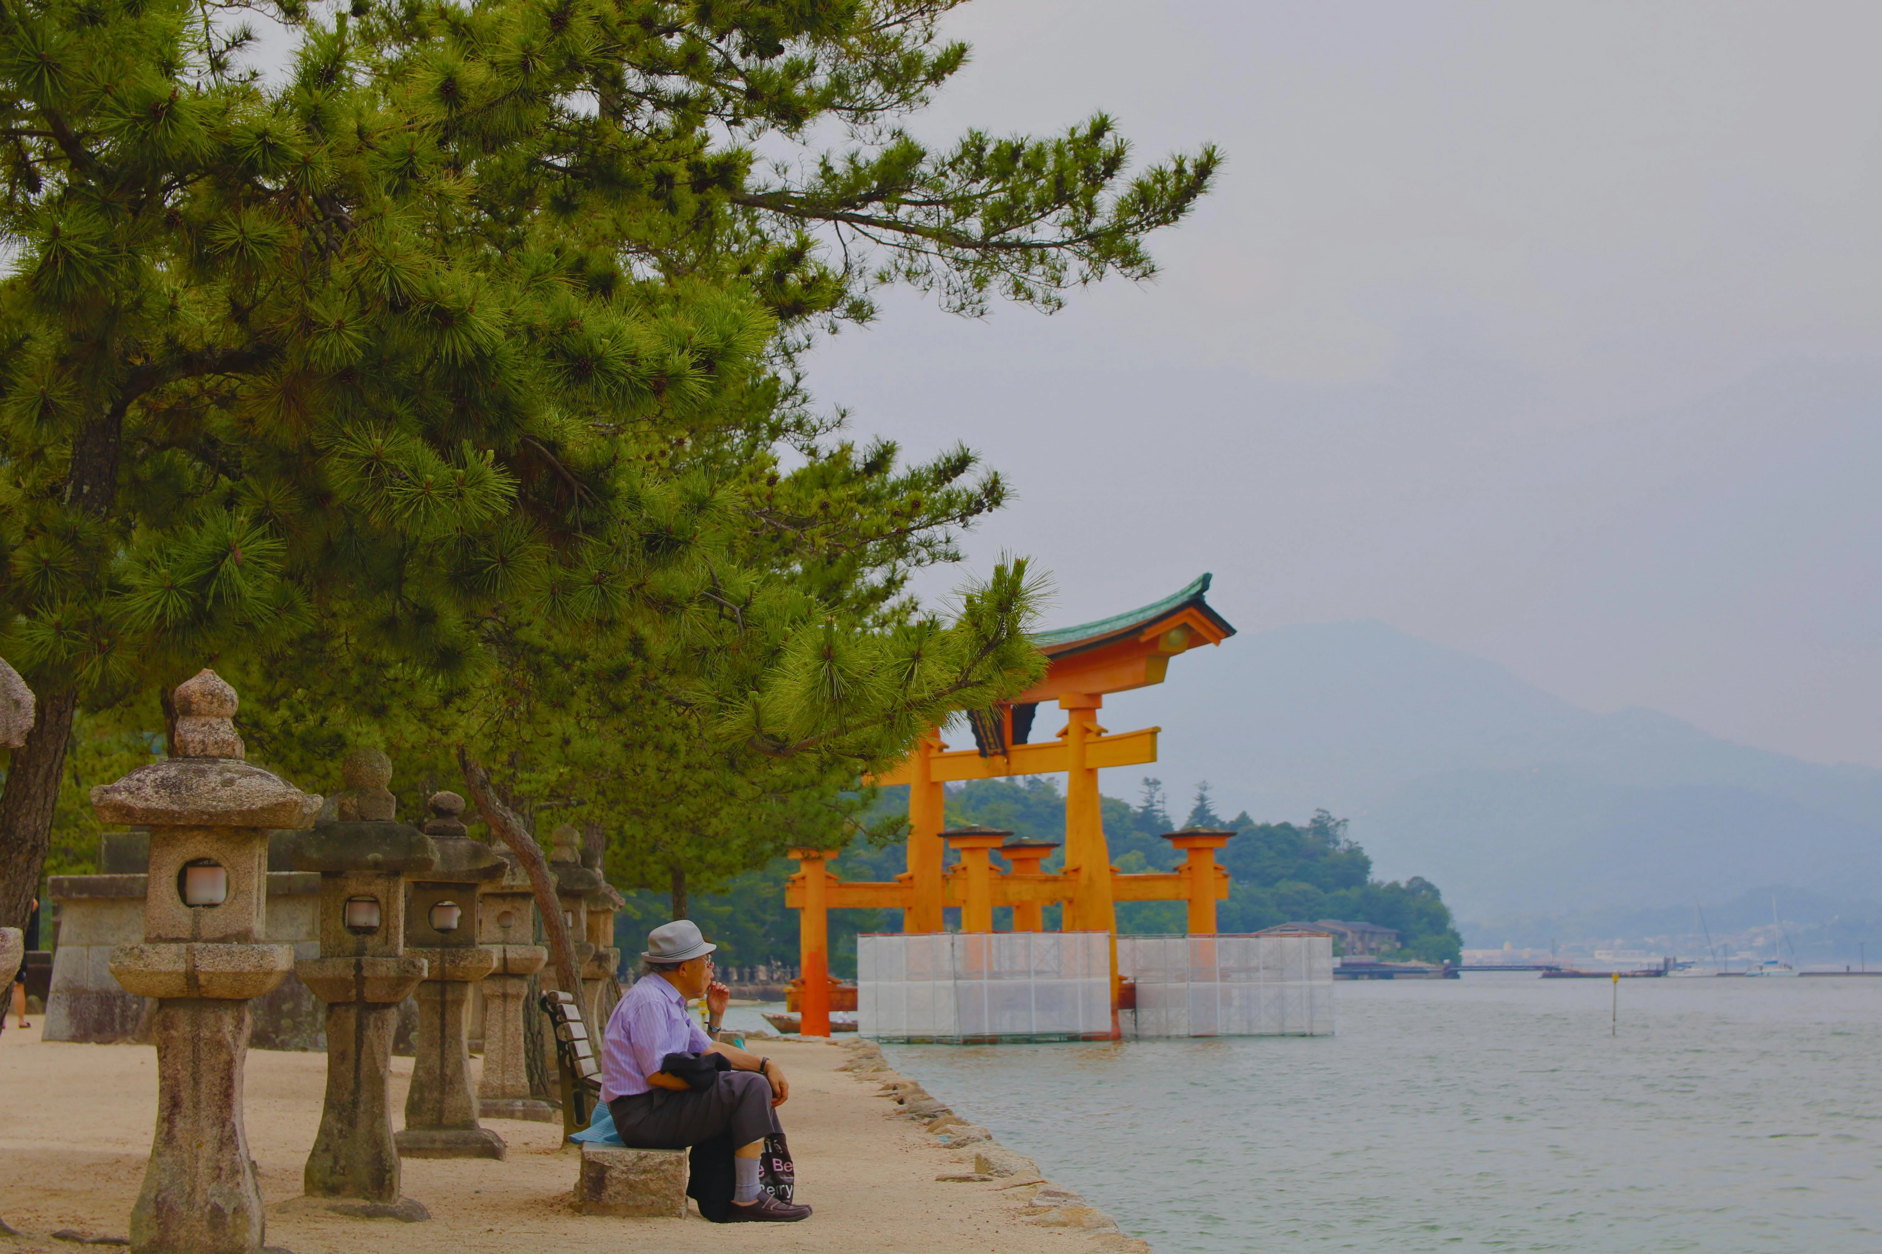
<svg viewBox="0 0 1882 1254">
<path fill-rule="evenodd" d="M 1105 835 L 1112 865 L 1120 870 L 1171 870 L 1180 861 L 1161 839 L 1178 827 L 1171 820 L 1163 786 L 1146 778 L 1137 805 L 1105 797 Z M 905 812 L 907 788 L 885 788 L 881 810 Z M 984 823 L 1033 840 L 1061 840 L 1065 795 L 1052 778 L 975 780 L 949 788 L 949 825 Z M 1372 859 L 1346 835 L 1346 820 L 1325 810 L 1306 823 L 1255 823 L 1246 812 L 1223 822 L 1201 790 L 1182 823 L 1233 827 L 1238 835 L 1223 850 L 1233 884 L 1218 914 L 1225 933 L 1253 933 L 1291 919 L 1351 919 L 1398 929 L 1406 957 L 1455 959 L 1460 938 L 1438 887 L 1413 876 L 1404 884 L 1372 878 Z M 952 855 L 949 855 L 952 863 Z M 1046 870 L 1063 863 L 1046 859 Z M 736 878 L 728 891 L 694 895 L 689 916 L 708 936 L 725 946 L 723 964 L 792 963 L 798 951 L 794 912 L 785 908 L 785 878 L 794 865 L 777 861 Z M 836 863 L 843 880 L 890 880 L 905 870 L 900 844 L 851 848 Z M 950 916 L 954 912 L 949 912 Z M 670 917 L 664 893 L 629 893 L 617 917 L 617 938 L 629 953 L 640 949 L 649 927 Z M 1011 912 L 996 910 L 994 927 L 1011 927 Z M 830 914 L 832 968 L 843 978 L 856 972 L 856 933 L 900 931 L 894 910 L 834 910 Z M 1058 908 L 1046 910 L 1046 927 L 1058 927 Z M 1182 902 L 1125 902 L 1118 906 L 1124 933 L 1184 931 Z"/>
</svg>

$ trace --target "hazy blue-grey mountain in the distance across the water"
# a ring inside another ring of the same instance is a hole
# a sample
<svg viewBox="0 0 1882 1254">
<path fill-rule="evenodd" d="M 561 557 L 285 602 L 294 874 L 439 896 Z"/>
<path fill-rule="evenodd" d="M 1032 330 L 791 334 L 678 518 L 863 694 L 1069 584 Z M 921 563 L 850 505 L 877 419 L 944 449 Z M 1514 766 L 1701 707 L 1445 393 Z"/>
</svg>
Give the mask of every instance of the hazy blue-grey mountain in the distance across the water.
<svg viewBox="0 0 1882 1254">
<path fill-rule="evenodd" d="M 1882 771 L 1596 714 L 1380 622 L 1244 634 L 1203 664 L 1148 690 L 1165 761 L 1255 818 L 1351 818 L 1380 872 L 1434 880 L 1464 919 L 1769 884 L 1882 897 Z"/>
</svg>

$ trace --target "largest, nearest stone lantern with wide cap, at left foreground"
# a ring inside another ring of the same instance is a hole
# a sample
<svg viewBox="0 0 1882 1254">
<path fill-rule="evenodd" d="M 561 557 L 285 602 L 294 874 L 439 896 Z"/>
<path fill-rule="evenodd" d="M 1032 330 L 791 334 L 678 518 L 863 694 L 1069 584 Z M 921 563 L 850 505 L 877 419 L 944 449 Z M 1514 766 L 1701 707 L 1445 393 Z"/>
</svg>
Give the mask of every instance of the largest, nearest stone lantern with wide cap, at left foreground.
<svg viewBox="0 0 1882 1254">
<path fill-rule="evenodd" d="M 256 1254 L 262 1190 L 243 1128 L 250 998 L 294 968 L 265 944 L 267 833 L 320 797 L 243 761 L 235 690 L 199 671 L 175 690 L 171 756 L 92 790 L 100 823 L 151 827 L 143 942 L 111 951 L 126 991 L 158 998 L 156 1136 L 130 1215 L 136 1254 Z"/>
</svg>

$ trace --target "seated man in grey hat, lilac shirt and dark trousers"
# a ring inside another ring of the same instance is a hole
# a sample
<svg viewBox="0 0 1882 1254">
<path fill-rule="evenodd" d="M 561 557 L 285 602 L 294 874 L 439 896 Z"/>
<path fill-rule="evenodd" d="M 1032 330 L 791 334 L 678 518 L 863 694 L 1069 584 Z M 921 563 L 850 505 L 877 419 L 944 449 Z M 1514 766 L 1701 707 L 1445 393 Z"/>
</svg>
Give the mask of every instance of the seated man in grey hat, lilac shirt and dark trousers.
<svg viewBox="0 0 1882 1254">
<path fill-rule="evenodd" d="M 792 1222 L 809 1207 L 777 1201 L 758 1188 L 758 1152 L 766 1134 L 779 1132 L 774 1107 L 790 1096 L 783 1070 L 770 1058 L 721 1045 L 687 1013 L 687 998 L 704 996 L 717 1025 L 730 989 L 713 983 L 711 957 L 698 923 L 674 919 L 647 933 L 642 980 L 627 991 L 608 1019 L 600 1053 L 600 1096 L 614 1115 L 621 1143 L 630 1149 L 687 1149 L 732 1132 L 732 1222 Z M 670 1053 L 717 1053 L 732 1064 L 711 1089 L 693 1090 L 668 1075 Z"/>
</svg>

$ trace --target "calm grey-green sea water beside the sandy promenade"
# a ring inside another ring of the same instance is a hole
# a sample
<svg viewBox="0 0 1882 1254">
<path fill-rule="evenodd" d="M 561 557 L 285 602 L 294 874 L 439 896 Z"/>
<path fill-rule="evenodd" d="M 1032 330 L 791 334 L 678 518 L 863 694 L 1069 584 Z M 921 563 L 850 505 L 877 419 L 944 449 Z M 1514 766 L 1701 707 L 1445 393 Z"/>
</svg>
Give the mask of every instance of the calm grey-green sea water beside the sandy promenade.
<svg viewBox="0 0 1882 1254">
<path fill-rule="evenodd" d="M 1340 983 L 1332 1038 L 892 1045 L 1159 1254 L 1882 1250 L 1882 980 Z"/>
</svg>

